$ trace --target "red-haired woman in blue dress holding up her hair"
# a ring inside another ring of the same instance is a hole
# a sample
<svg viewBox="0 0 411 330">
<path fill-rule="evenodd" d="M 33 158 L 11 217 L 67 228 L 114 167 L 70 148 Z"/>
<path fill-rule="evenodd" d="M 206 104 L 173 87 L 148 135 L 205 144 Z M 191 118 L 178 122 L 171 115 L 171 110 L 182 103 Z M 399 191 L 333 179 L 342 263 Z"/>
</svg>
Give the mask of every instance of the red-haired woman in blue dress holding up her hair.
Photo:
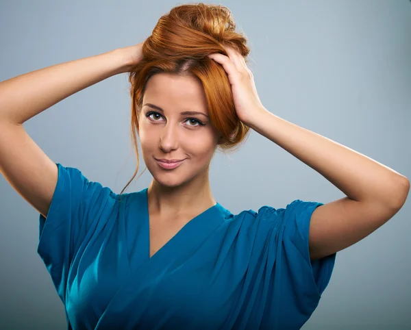
<svg viewBox="0 0 411 330">
<path fill-rule="evenodd" d="M 1 173 L 40 212 L 38 253 L 69 329 L 299 329 L 336 253 L 405 202 L 403 175 L 266 110 L 234 29 L 223 6 L 181 5 L 142 44 L 1 82 Z M 116 194 L 51 161 L 23 123 L 127 72 L 137 160 L 136 133 L 153 180 Z M 238 147 L 250 128 L 347 196 L 236 215 L 216 203 L 214 152 Z"/>
</svg>

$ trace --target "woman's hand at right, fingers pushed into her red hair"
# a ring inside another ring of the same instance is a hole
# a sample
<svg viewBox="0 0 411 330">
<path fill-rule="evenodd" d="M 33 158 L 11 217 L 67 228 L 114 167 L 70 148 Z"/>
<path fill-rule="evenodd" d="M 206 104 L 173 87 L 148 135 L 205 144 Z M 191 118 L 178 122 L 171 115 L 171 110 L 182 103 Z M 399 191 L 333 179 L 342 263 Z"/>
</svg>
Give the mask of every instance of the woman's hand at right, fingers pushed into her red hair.
<svg viewBox="0 0 411 330">
<path fill-rule="evenodd" d="M 225 50 L 229 57 L 221 53 L 212 53 L 208 57 L 223 66 L 232 86 L 236 114 L 242 123 L 249 126 L 253 118 L 267 110 L 258 97 L 253 73 L 247 67 L 242 55 L 229 46 L 225 46 Z"/>
</svg>

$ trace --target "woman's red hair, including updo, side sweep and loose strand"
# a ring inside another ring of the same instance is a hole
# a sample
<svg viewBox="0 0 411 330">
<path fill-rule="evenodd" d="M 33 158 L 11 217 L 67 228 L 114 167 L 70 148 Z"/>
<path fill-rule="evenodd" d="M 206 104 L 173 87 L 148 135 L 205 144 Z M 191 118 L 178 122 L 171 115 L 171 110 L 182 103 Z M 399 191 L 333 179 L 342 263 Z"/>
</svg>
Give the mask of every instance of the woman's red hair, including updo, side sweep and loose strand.
<svg viewBox="0 0 411 330">
<path fill-rule="evenodd" d="M 156 73 L 193 75 L 201 81 L 210 123 L 217 134 L 223 137 L 217 149 L 233 151 L 245 140 L 249 127 L 236 115 L 227 74 L 223 66 L 207 57 L 211 53 L 228 56 L 224 49 L 224 45 L 227 45 L 236 49 L 246 60 L 250 52 L 246 45 L 247 37 L 235 29 L 232 13 L 223 5 L 179 5 L 159 19 L 151 36 L 142 46 L 142 60 L 129 73 L 132 97 L 131 136 L 137 155 L 137 167 L 125 188 L 138 173 L 138 116 L 147 81 Z"/>
</svg>

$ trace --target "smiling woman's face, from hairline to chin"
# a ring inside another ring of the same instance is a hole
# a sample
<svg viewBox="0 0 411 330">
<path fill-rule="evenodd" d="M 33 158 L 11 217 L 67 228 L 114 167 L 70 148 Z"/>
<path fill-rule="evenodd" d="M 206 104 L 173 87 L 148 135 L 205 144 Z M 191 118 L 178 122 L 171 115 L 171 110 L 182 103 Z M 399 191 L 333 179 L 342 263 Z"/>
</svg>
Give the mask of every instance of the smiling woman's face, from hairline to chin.
<svg viewBox="0 0 411 330">
<path fill-rule="evenodd" d="M 218 136 L 196 77 L 153 75 L 147 82 L 138 128 L 143 159 L 158 183 L 175 187 L 208 174 Z M 171 169 L 162 167 L 160 159 L 182 162 Z"/>
</svg>

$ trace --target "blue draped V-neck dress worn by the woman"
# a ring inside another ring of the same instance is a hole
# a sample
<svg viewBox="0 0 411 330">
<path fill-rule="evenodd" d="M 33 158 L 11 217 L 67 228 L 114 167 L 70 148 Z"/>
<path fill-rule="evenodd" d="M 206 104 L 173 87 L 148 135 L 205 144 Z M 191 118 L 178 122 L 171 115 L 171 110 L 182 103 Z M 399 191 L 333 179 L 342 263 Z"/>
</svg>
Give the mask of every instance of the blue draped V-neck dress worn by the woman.
<svg viewBox="0 0 411 330">
<path fill-rule="evenodd" d="M 300 329 L 319 304 L 336 258 L 310 261 L 322 203 L 236 215 L 216 203 L 150 258 L 147 188 L 120 199 L 56 165 L 38 254 L 68 329 Z"/>
</svg>

